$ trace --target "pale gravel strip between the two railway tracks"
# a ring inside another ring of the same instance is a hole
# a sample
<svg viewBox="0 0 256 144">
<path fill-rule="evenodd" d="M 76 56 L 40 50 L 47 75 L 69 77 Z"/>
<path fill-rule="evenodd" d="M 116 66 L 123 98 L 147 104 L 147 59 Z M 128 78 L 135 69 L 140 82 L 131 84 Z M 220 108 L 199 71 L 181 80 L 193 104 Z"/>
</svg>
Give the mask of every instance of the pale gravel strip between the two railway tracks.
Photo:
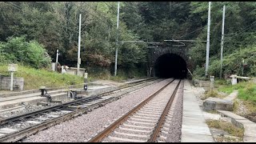
<svg viewBox="0 0 256 144">
<path fill-rule="evenodd" d="M 170 79 L 148 86 L 147 89 L 138 90 L 88 114 L 38 132 L 23 142 L 87 142 L 93 135 L 109 126 L 115 119 L 122 117 L 123 114 L 148 98 L 149 94 L 159 90 L 168 82 Z"/>
</svg>

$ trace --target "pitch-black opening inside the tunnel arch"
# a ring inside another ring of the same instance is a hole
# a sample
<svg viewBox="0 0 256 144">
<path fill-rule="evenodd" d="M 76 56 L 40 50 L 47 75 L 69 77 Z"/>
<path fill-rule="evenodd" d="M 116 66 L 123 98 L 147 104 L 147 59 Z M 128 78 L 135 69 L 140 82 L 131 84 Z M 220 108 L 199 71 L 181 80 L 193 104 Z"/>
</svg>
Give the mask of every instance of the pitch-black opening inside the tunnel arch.
<svg viewBox="0 0 256 144">
<path fill-rule="evenodd" d="M 178 54 L 163 54 L 154 66 L 158 78 L 186 78 L 186 61 Z"/>
</svg>

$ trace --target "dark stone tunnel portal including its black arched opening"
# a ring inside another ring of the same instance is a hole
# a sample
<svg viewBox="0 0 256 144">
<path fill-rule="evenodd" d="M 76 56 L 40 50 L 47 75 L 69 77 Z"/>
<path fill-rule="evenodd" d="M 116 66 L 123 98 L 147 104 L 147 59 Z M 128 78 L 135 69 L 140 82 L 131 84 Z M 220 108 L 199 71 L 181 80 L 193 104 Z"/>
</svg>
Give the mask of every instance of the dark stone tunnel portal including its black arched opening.
<svg viewBox="0 0 256 144">
<path fill-rule="evenodd" d="M 154 45 L 155 46 L 148 46 L 148 76 L 191 78 L 194 65 L 190 60 L 189 46 L 170 46 L 165 43 L 154 43 Z M 169 68 L 167 66 L 169 66 Z M 178 70 L 175 70 L 175 67 L 178 67 Z M 171 70 L 174 70 L 174 72 Z M 182 70 L 185 70 L 185 76 Z M 170 71 L 170 75 L 167 71 Z M 179 72 L 182 72 L 182 74 L 178 74 Z"/>
</svg>

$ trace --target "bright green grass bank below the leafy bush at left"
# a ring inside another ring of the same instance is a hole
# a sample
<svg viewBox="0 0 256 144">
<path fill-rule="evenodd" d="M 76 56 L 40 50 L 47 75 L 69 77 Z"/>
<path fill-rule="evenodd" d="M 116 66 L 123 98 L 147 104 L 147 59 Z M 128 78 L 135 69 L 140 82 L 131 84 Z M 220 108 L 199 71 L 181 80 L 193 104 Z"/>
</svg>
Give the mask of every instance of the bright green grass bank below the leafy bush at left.
<svg viewBox="0 0 256 144">
<path fill-rule="evenodd" d="M 0 66 L 0 74 L 10 77 L 7 66 Z M 37 90 L 40 86 L 49 88 L 77 85 L 84 82 L 84 78 L 71 74 L 59 74 L 50 70 L 34 69 L 18 65 L 14 77 L 24 78 L 24 90 Z"/>
</svg>

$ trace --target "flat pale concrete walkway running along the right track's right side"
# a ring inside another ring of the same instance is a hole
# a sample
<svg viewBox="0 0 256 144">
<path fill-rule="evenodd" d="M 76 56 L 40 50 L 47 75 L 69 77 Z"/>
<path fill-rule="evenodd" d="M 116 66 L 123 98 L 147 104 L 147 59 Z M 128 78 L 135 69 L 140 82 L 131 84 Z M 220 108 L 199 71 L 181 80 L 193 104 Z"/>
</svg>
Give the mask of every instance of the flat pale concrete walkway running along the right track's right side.
<svg viewBox="0 0 256 144">
<path fill-rule="evenodd" d="M 187 80 L 184 82 L 181 142 L 214 142 L 198 100 Z"/>
</svg>

